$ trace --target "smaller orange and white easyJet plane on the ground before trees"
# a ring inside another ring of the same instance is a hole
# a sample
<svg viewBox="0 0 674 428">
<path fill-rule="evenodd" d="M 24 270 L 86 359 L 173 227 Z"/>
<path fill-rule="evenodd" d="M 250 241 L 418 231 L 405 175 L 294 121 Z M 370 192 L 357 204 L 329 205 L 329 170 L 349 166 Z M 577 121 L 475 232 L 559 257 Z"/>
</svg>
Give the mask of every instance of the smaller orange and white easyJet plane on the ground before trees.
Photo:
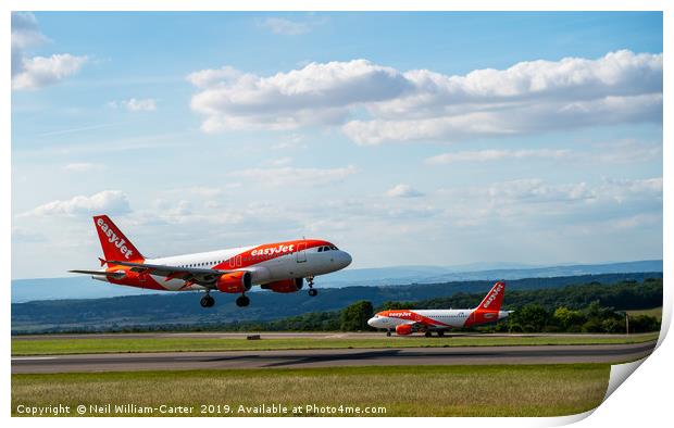
<svg viewBox="0 0 674 428">
<path fill-rule="evenodd" d="M 499 281 L 487 293 L 479 305 L 472 310 L 389 310 L 382 311 L 367 320 L 374 328 L 385 328 L 386 336 L 391 330 L 397 335 L 411 335 L 413 331 L 424 331 L 429 338 L 433 331 L 444 336 L 452 328 L 471 327 L 478 324 L 494 323 L 506 318 L 512 311 L 501 311 L 506 282 Z"/>
</svg>

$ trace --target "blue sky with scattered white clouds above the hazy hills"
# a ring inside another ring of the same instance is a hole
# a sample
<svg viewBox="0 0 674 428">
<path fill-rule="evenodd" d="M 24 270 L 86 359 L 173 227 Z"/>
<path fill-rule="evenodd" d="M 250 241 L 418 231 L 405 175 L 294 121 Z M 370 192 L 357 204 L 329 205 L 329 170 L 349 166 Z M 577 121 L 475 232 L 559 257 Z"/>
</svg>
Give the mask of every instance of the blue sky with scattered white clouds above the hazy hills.
<svg viewBox="0 0 674 428">
<path fill-rule="evenodd" d="M 662 257 L 662 14 L 12 15 L 12 277 L 327 239 L 351 267 Z M 39 263 L 36 263 L 39 261 Z"/>
</svg>

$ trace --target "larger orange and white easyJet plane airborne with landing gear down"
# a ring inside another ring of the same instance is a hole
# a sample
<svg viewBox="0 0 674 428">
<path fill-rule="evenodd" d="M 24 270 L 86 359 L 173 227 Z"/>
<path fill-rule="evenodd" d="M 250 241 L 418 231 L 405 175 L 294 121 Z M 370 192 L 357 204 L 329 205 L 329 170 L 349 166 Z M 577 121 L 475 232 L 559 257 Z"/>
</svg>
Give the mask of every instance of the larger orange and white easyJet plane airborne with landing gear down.
<svg viewBox="0 0 674 428">
<path fill-rule="evenodd" d="M 101 270 L 68 270 L 92 275 L 93 279 L 121 286 L 162 291 L 205 291 L 202 307 L 211 307 L 215 299 L 211 291 L 241 294 L 237 306 L 248 306 L 246 295 L 252 286 L 279 293 L 302 289 L 304 279 L 309 295 L 319 291 L 313 288 L 314 278 L 344 269 L 351 256 L 333 243 L 320 239 L 264 243 L 175 255 L 146 259 L 107 215 L 93 217 L 104 259 L 99 257 Z"/>
</svg>

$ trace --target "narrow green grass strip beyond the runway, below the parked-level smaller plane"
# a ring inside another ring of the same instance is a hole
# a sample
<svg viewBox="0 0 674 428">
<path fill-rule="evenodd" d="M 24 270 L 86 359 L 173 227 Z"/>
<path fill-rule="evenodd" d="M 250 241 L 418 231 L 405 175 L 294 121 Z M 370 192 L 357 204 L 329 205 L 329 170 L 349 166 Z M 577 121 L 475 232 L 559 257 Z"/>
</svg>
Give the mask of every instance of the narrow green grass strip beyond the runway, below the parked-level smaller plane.
<svg viewBox="0 0 674 428">
<path fill-rule="evenodd" d="M 612 344 L 656 340 L 658 333 L 592 337 L 453 337 L 453 338 L 354 338 L 354 339 L 219 339 L 219 338 L 83 338 L 12 339 L 12 355 L 49 355 L 116 352 L 265 351 L 340 348 L 494 347 L 544 344 Z"/>
</svg>

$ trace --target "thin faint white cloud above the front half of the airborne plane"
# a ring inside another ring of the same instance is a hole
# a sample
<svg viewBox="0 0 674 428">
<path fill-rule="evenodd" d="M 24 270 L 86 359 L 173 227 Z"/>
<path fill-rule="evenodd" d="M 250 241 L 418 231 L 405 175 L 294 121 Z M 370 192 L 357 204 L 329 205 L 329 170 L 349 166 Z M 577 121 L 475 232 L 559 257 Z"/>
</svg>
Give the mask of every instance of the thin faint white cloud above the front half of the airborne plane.
<svg viewBox="0 0 674 428">
<path fill-rule="evenodd" d="M 341 181 L 355 174 L 355 167 L 350 165 L 340 168 L 295 168 L 290 166 L 278 168 L 250 168 L 230 173 L 258 186 L 280 187 L 286 185 L 324 186 Z"/>
</svg>

